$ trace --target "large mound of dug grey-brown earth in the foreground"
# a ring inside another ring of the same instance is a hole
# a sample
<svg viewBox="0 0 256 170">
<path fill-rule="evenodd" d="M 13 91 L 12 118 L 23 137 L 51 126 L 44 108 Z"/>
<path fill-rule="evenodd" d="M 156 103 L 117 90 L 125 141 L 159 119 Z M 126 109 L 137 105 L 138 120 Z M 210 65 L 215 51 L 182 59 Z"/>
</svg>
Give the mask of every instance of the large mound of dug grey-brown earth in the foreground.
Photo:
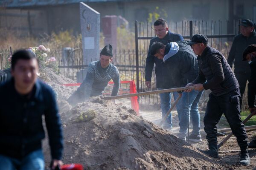
<svg viewBox="0 0 256 170">
<path fill-rule="evenodd" d="M 69 96 L 74 91 L 60 87 L 59 83 L 52 85 L 58 96 Z M 87 170 L 228 169 L 220 160 L 204 155 L 121 104 L 96 97 L 71 108 L 64 98 L 58 98 L 59 106 L 65 107 L 60 108 L 64 164 L 80 163 Z M 43 147 L 49 165 L 47 139 Z"/>
</svg>

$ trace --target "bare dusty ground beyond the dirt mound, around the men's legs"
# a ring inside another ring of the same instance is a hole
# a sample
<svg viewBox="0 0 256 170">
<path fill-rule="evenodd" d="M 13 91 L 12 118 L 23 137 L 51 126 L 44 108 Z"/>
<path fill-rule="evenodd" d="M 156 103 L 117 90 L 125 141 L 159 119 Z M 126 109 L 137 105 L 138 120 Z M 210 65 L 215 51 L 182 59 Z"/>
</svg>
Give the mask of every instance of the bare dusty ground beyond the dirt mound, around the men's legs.
<svg viewBox="0 0 256 170">
<path fill-rule="evenodd" d="M 160 110 L 158 111 L 140 111 L 140 115 L 143 117 L 143 119 L 146 119 L 150 122 L 153 122 L 156 125 L 159 125 L 162 115 Z M 201 137 L 203 142 L 200 143 L 192 143 L 193 146 L 198 148 L 199 150 L 207 150 L 207 140 L 205 139 L 206 133 L 204 132 L 204 112 L 200 112 L 201 115 Z M 222 118 L 225 119 L 225 118 Z M 177 116 L 177 111 L 172 111 L 172 134 L 177 134 L 179 130 L 179 119 Z M 227 125 L 224 123 L 224 121 L 221 121 L 218 123 L 217 128 L 222 129 L 227 127 Z M 190 132 L 192 130 L 192 125 L 190 124 Z M 256 131 L 250 131 L 247 132 L 248 141 L 250 142 L 253 138 L 253 136 L 256 135 Z M 221 142 L 225 136 L 218 136 L 218 142 Z M 237 162 L 239 160 L 239 146 L 236 142 L 236 137 L 232 136 L 227 143 L 223 145 L 223 147 L 219 150 L 219 159 L 222 159 L 224 162 L 226 162 L 229 165 L 232 165 L 230 170 L 256 170 L 256 149 L 249 149 L 249 155 L 251 159 L 250 166 L 241 166 L 238 165 Z"/>
</svg>

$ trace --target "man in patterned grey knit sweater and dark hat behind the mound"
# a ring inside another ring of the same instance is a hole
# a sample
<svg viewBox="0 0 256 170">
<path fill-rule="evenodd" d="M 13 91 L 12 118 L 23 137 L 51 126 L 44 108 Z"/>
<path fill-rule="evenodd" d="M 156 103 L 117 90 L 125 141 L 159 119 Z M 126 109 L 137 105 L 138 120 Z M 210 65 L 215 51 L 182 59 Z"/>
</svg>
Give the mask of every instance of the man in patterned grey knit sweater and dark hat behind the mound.
<svg viewBox="0 0 256 170">
<path fill-rule="evenodd" d="M 118 69 L 111 63 L 112 57 L 112 45 L 108 44 L 100 52 L 99 61 L 93 61 L 88 65 L 84 81 L 77 91 L 67 99 L 70 105 L 85 102 L 90 96 L 102 95 L 111 79 L 114 82 L 111 96 L 117 95 L 120 77 Z"/>
</svg>

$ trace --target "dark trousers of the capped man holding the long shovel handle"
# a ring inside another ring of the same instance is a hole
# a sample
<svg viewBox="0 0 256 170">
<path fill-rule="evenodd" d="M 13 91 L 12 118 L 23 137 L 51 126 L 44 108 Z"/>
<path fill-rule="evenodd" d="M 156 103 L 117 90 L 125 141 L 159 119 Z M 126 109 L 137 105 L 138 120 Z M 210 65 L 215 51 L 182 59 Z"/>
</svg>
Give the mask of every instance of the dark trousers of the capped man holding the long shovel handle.
<svg viewBox="0 0 256 170">
<path fill-rule="evenodd" d="M 247 147 L 247 135 L 244 124 L 241 121 L 239 106 L 240 91 L 237 88 L 229 94 L 214 96 L 209 94 L 209 101 L 204 116 L 204 130 L 209 143 L 217 143 L 217 123 L 224 113 L 227 122 L 240 147 Z"/>
</svg>

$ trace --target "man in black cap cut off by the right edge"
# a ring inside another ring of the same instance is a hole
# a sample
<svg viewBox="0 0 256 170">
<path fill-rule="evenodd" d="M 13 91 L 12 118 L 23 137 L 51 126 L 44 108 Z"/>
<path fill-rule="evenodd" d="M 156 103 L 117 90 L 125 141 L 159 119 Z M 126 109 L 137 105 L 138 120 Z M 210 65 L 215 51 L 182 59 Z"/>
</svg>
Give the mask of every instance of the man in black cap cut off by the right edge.
<svg viewBox="0 0 256 170">
<path fill-rule="evenodd" d="M 243 53 L 243 61 L 248 62 L 250 65 L 250 79 L 248 83 L 248 105 L 250 113 L 256 110 L 255 98 L 256 98 L 256 44 L 249 45 L 245 48 Z M 249 148 L 256 148 L 256 136 L 248 144 Z"/>
</svg>

